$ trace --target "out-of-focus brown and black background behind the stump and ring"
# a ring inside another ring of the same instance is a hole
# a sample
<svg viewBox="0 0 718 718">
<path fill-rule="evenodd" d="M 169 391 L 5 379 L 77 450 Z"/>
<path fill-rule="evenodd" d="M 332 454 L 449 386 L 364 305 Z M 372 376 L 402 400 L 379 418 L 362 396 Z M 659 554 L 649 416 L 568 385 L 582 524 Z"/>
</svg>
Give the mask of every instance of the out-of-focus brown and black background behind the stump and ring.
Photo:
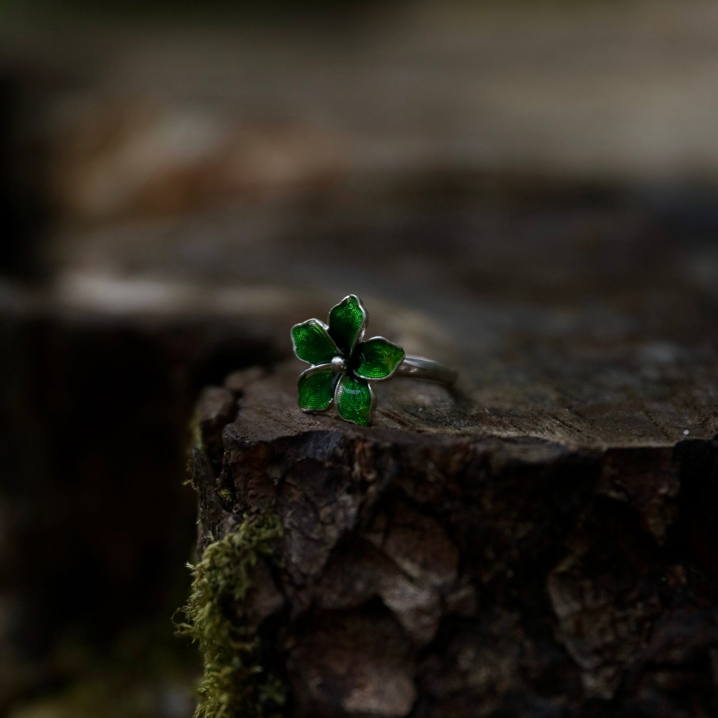
<svg viewBox="0 0 718 718">
<path fill-rule="evenodd" d="M 0 714 L 192 714 L 192 406 L 349 292 L 708 376 L 717 88 L 712 0 L 0 0 Z"/>
</svg>

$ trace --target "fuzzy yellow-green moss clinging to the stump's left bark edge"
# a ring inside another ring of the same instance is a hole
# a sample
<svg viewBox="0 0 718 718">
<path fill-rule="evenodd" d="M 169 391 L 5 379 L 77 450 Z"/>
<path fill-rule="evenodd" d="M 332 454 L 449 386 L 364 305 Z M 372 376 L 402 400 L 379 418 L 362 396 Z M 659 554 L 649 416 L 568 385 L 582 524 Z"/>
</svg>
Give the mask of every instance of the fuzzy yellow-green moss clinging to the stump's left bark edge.
<svg viewBox="0 0 718 718">
<path fill-rule="evenodd" d="M 261 666 L 261 644 L 243 620 L 253 568 L 274 559 L 276 516 L 245 518 L 205 549 L 192 570 L 192 592 L 178 633 L 199 644 L 204 678 L 196 718 L 279 718 L 284 684 Z"/>
</svg>

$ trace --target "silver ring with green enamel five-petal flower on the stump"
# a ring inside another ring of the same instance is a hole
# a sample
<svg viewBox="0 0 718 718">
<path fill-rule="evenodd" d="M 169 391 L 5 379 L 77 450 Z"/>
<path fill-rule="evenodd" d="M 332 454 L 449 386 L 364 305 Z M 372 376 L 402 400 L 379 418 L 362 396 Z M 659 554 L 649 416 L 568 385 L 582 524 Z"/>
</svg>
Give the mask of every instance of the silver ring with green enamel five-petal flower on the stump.
<svg viewBox="0 0 718 718">
<path fill-rule="evenodd" d="M 297 358 L 311 364 L 299 375 L 299 408 L 326 411 L 332 405 L 345 421 L 368 426 L 376 406 L 372 383 L 393 376 L 453 384 L 457 372 L 424 357 L 406 356 L 384 337 L 364 341 L 369 315 L 355 294 L 329 312 L 327 324 L 309 319 L 292 327 Z"/>
</svg>

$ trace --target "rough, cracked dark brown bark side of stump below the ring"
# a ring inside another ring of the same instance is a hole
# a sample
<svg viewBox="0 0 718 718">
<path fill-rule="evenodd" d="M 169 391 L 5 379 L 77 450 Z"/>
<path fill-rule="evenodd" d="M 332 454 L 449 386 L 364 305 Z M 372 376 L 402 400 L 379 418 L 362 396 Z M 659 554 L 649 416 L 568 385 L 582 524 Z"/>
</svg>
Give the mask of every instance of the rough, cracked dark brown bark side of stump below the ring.
<svg viewBox="0 0 718 718">
<path fill-rule="evenodd" d="M 716 714 L 715 439 L 492 435 L 410 381 L 361 429 L 297 410 L 296 369 L 210 390 L 193 455 L 200 555 L 284 528 L 240 613 L 287 715 Z"/>
</svg>

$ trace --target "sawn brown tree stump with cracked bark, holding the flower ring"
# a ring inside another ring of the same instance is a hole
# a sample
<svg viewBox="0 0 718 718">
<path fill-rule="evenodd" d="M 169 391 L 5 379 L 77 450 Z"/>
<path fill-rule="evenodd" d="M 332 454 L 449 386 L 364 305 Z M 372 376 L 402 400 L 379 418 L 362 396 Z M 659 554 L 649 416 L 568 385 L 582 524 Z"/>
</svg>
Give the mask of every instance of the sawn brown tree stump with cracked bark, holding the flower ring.
<svg viewBox="0 0 718 718">
<path fill-rule="evenodd" d="M 345 282 L 290 309 L 287 350 L 358 292 L 369 335 L 456 365 L 454 388 L 378 384 L 360 428 L 299 411 L 287 359 L 200 401 L 200 556 L 267 515 L 283 530 L 229 605 L 286 715 L 718 712 L 718 256 L 607 197 L 541 234 L 544 200 L 375 227 L 361 286 L 359 230 L 274 264 Z M 277 258 L 256 247 L 255 268 Z"/>
</svg>

